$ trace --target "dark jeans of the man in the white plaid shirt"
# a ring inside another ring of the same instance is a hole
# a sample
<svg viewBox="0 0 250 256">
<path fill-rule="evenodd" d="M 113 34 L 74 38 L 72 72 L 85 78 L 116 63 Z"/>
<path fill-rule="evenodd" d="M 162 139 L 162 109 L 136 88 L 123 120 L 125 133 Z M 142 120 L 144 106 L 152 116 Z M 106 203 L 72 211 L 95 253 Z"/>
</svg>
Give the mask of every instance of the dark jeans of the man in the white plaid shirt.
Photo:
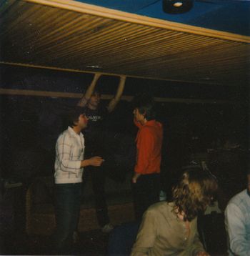
<svg viewBox="0 0 250 256">
<path fill-rule="evenodd" d="M 79 222 L 81 189 L 81 183 L 55 184 L 55 242 L 59 253 L 71 249 L 73 233 Z"/>
</svg>

